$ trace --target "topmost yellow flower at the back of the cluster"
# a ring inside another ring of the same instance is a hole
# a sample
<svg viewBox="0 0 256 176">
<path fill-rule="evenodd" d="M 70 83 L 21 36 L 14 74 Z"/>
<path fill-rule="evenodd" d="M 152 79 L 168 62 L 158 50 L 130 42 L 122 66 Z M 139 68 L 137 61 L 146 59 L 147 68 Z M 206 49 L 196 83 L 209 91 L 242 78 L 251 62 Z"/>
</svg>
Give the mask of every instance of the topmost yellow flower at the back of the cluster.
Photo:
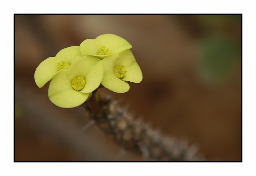
<svg viewBox="0 0 256 176">
<path fill-rule="evenodd" d="M 83 56 L 96 56 L 101 60 L 109 54 L 118 54 L 130 48 L 132 46 L 125 39 L 114 34 L 103 34 L 95 39 L 86 39 L 80 44 Z"/>
</svg>

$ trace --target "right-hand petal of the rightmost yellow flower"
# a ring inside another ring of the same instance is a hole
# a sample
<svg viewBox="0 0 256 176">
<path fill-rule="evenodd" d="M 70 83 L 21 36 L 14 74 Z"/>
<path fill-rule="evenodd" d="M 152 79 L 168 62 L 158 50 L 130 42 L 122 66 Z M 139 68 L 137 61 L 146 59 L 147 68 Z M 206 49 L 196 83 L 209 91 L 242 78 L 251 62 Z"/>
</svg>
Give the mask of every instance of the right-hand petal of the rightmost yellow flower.
<svg viewBox="0 0 256 176">
<path fill-rule="evenodd" d="M 124 65 L 124 70 L 127 71 L 121 80 L 140 83 L 142 81 L 142 72 L 131 50 L 125 50 L 119 53 L 119 55 L 120 59 L 116 64 L 120 66 Z"/>
</svg>

